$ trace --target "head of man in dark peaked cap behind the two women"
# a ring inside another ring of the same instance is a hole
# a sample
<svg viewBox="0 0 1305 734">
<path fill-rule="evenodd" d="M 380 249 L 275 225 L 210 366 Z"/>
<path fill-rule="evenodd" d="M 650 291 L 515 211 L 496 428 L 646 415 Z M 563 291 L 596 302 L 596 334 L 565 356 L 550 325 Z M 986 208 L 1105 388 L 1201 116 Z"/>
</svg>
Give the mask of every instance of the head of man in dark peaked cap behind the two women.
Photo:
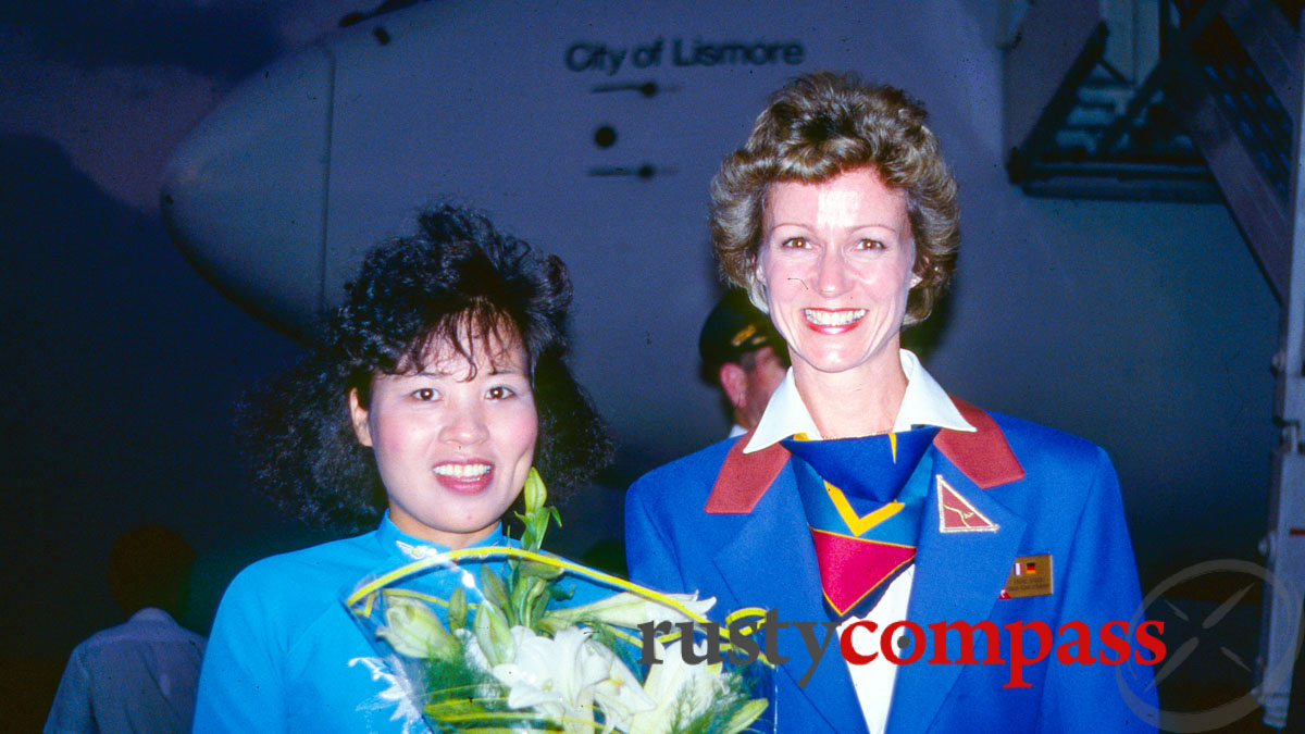
<svg viewBox="0 0 1305 734">
<path fill-rule="evenodd" d="M 729 404 L 731 436 L 743 435 L 761 421 L 770 394 L 788 371 L 788 349 L 770 317 L 731 290 L 716 303 L 698 336 L 702 377 L 720 385 Z"/>
</svg>

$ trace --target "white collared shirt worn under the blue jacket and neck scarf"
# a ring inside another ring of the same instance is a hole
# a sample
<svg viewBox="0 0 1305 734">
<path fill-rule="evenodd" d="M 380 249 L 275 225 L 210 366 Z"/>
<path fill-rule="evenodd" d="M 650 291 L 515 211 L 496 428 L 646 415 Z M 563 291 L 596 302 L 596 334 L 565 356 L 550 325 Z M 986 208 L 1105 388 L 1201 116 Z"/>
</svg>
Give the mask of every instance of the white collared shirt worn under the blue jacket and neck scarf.
<svg viewBox="0 0 1305 734">
<path fill-rule="evenodd" d="M 906 393 L 902 396 L 902 406 L 893 421 L 893 431 L 910 431 L 914 426 L 938 426 L 953 431 L 974 431 L 971 426 L 957 410 L 957 406 L 944 392 L 942 387 L 929 376 L 929 372 L 920 364 L 920 359 L 907 350 L 900 350 L 902 371 L 906 374 Z M 788 368 L 784 381 L 779 384 L 775 393 L 766 404 L 766 411 L 757 423 L 757 432 L 744 448 L 744 453 L 761 451 L 779 443 L 793 434 L 804 432 L 810 439 L 820 438 L 816 421 L 812 419 L 806 404 L 797 393 L 793 383 L 793 370 Z M 915 564 L 911 564 L 900 576 L 889 584 L 883 597 L 874 605 L 865 616 L 848 618 L 838 628 L 839 639 L 848 626 L 869 620 L 876 624 L 876 632 L 870 635 L 863 630 L 852 632 L 852 644 L 859 652 L 870 653 L 878 649 L 880 633 L 893 622 L 906 619 L 907 602 L 911 599 L 911 584 L 915 579 Z M 900 637 L 900 635 L 899 635 Z M 894 639 L 897 645 L 898 640 Z M 915 640 L 914 644 L 920 644 Z M 897 683 L 897 667 L 877 654 L 867 665 L 848 663 L 852 675 L 852 687 L 856 688 L 856 699 L 861 704 L 861 714 L 865 717 L 865 726 L 870 734 L 880 734 L 887 726 L 889 703 L 893 700 L 893 687 Z"/>
</svg>

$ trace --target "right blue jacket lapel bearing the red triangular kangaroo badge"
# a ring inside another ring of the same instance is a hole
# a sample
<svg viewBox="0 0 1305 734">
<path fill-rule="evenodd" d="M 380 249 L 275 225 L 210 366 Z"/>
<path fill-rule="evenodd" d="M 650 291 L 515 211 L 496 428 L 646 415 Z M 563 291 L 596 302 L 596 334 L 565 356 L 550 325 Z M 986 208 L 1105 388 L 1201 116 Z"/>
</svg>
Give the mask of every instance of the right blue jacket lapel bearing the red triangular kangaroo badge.
<svg viewBox="0 0 1305 734">
<path fill-rule="evenodd" d="M 1006 584 L 1027 525 L 1023 517 L 980 488 L 941 451 L 934 452 L 933 473 L 907 609 L 907 619 L 925 630 L 927 644 L 919 661 L 898 669 L 889 734 L 928 731 L 962 669 L 959 665 L 928 662 L 933 657 L 929 624 L 988 619 Z M 940 483 L 946 486 L 940 487 Z M 949 491 L 954 494 L 944 496 Z M 947 522 L 945 528 L 942 504 L 944 500 L 954 503 L 955 495 L 996 529 L 958 529 L 955 522 Z M 949 657 L 954 654 L 949 650 Z"/>
</svg>

